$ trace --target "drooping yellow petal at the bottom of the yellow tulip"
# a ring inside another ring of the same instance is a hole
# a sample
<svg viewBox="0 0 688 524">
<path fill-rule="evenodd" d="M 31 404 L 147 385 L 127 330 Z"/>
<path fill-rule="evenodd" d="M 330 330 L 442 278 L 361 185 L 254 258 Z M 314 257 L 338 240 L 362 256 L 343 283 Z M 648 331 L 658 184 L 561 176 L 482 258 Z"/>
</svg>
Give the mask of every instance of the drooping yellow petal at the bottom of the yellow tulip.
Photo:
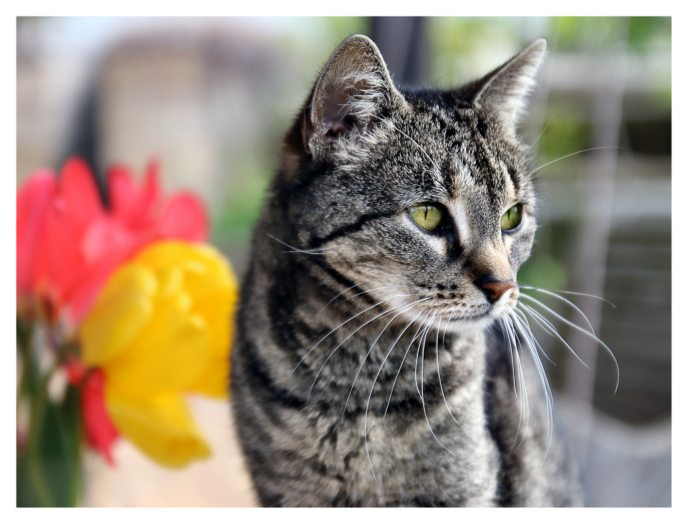
<svg viewBox="0 0 688 524">
<path fill-rule="evenodd" d="M 186 401 L 177 393 L 130 397 L 108 382 L 105 402 L 120 433 L 164 466 L 182 468 L 211 453 L 191 418 Z"/>
</svg>

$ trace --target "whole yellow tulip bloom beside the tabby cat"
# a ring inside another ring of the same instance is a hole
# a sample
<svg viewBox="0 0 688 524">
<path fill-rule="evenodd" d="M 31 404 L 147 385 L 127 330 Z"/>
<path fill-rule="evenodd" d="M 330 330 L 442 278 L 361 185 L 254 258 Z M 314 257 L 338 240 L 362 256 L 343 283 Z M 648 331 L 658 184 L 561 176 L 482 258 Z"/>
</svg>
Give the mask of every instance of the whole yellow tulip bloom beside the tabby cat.
<svg viewBox="0 0 688 524">
<path fill-rule="evenodd" d="M 184 394 L 228 394 L 237 281 L 204 244 L 159 241 L 112 274 L 79 329 L 122 435 L 165 466 L 210 455 Z"/>
</svg>

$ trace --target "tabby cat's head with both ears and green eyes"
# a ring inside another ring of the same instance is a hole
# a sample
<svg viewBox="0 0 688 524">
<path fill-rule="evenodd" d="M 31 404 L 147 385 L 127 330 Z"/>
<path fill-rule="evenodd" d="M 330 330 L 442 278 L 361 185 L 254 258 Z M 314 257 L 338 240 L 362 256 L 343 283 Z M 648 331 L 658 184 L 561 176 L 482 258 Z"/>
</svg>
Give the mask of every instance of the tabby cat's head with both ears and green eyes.
<svg viewBox="0 0 688 524">
<path fill-rule="evenodd" d="M 545 47 L 457 89 L 400 91 L 367 36 L 344 41 L 286 138 L 292 241 L 408 321 L 507 314 L 536 229 L 515 127 Z"/>
</svg>

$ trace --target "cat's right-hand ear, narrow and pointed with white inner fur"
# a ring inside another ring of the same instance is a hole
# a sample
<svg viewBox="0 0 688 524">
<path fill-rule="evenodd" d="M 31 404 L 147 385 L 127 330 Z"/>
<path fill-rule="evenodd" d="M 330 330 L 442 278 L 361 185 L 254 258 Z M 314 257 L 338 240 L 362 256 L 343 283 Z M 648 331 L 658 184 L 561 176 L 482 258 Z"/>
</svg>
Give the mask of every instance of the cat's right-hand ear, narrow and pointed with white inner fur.
<svg viewBox="0 0 688 524">
<path fill-rule="evenodd" d="M 545 39 L 536 40 L 476 83 L 473 106 L 492 111 L 511 135 L 515 135 L 518 118 L 524 113 L 526 96 L 535 85 L 546 47 Z"/>
</svg>

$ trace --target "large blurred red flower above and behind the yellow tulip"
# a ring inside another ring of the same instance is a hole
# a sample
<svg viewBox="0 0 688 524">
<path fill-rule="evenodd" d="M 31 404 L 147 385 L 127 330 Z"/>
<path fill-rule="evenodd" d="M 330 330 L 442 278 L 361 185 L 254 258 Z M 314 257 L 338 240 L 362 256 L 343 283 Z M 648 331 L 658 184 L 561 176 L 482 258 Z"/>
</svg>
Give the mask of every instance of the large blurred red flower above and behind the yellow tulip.
<svg viewBox="0 0 688 524">
<path fill-rule="evenodd" d="M 48 171 L 34 174 L 17 195 L 17 294 L 44 296 L 56 318 L 74 328 L 111 272 L 144 245 L 204 240 L 200 202 L 186 193 L 164 199 L 157 172 L 150 164 L 137 187 L 126 168 L 111 168 L 109 209 L 79 158 L 65 163 L 59 181 Z"/>
</svg>

